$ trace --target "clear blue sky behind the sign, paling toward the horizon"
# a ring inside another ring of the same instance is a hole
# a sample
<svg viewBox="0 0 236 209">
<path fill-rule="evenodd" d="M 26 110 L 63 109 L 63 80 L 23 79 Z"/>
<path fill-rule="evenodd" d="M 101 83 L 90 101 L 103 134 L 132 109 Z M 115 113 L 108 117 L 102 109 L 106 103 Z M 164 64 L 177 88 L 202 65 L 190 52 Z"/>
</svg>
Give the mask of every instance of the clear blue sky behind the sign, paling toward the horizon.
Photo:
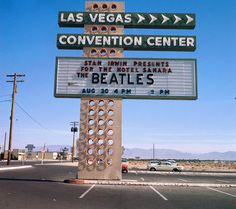
<svg viewBox="0 0 236 209">
<path fill-rule="evenodd" d="M 135 4 L 134 4 L 135 2 Z M 82 56 L 58 50 L 59 11 L 84 11 L 83 0 L 0 0 L 0 144 L 9 131 L 12 85 L 6 75 L 25 73 L 18 85 L 13 147 L 29 143 L 71 144 L 70 121 L 79 121 L 80 99 L 53 96 L 56 56 Z M 236 23 L 234 0 L 127 0 L 126 12 L 195 13 L 194 30 L 126 29 L 126 34 L 196 35 L 195 52 L 125 52 L 126 57 L 196 58 L 196 101 L 123 100 L 125 147 L 176 149 L 185 152 L 236 151 Z"/>
</svg>

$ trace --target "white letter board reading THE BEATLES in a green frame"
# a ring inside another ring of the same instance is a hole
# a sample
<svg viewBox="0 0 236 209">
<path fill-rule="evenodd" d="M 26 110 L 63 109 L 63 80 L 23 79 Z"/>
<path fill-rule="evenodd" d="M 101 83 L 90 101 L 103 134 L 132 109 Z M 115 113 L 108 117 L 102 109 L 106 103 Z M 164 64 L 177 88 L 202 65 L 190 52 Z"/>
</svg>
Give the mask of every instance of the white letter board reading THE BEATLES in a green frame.
<svg viewBox="0 0 236 209">
<path fill-rule="evenodd" d="M 195 100 L 196 60 L 57 57 L 54 94 Z"/>
</svg>

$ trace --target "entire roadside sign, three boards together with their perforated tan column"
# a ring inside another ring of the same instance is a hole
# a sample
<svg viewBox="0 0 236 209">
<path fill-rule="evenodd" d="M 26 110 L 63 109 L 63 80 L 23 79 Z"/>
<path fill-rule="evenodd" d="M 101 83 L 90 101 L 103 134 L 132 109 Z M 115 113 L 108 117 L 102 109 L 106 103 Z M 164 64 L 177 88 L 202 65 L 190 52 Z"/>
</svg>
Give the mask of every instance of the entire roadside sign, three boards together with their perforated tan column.
<svg viewBox="0 0 236 209">
<path fill-rule="evenodd" d="M 121 179 L 121 99 L 197 99 L 196 59 L 117 58 L 123 50 L 195 51 L 195 36 L 123 35 L 124 28 L 194 29 L 195 22 L 191 13 L 124 13 L 124 3 L 112 1 L 59 12 L 60 27 L 85 27 L 85 34 L 57 35 L 58 49 L 84 49 L 85 57 L 56 57 L 54 82 L 55 97 L 81 98 L 78 179 Z M 107 129 L 110 112 L 114 124 Z M 104 130 L 94 127 L 91 115 L 102 115 Z M 90 146 L 89 135 L 101 131 L 111 136 L 103 137 L 108 151 Z"/>
</svg>

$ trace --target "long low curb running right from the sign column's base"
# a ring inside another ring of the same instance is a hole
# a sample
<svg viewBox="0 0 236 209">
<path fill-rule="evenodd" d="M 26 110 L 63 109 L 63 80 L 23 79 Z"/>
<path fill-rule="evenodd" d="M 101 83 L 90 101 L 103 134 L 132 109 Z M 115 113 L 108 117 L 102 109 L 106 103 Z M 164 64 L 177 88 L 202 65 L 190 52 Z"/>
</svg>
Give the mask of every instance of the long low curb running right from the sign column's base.
<svg viewBox="0 0 236 209">
<path fill-rule="evenodd" d="M 134 182 L 119 180 L 82 180 L 82 179 L 66 179 L 64 183 L 69 184 L 97 184 L 97 185 L 130 185 L 130 186 L 177 186 L 177 187 L 216 187 L 216 188 L 236 188 L 236 184 L 204 184 L 204 183 L 157 183 L 157 182 Z"/>
</svg>

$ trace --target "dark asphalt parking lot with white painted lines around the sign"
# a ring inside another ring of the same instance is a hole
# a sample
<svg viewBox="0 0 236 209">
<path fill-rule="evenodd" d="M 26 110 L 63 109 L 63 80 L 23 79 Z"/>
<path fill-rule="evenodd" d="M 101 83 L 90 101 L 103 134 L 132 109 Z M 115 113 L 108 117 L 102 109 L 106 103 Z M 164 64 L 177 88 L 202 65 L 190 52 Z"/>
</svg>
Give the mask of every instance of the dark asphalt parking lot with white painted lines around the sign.
<svg viewBox="0 0 236 209">
<path fill-rule="evenodd" d="M 235 209 L 236 188 L 71 185 L 76 167 L 0 171 L 0 209 Z M 124 180 L 236 183 L 233 176 L 124 174 Z M 181 180 L 182 179 L 182 180 Z"/>
</svg>

